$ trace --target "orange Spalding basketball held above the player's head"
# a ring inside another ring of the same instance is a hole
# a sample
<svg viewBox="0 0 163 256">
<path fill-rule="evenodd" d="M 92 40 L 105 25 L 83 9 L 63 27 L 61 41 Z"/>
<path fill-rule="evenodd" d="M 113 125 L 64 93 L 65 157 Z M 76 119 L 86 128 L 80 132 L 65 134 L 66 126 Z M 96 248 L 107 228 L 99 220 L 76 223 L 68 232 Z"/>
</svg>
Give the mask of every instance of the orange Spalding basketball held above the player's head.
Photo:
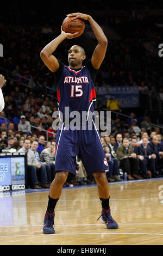
<svg viewBox="0 0 163 256">
<path fill-rule="evenodd" d="M 85 23 L 83 19 L 78 18 L 76 20 L 72 20 L 72 18 L 73 17 L 66 17 L 66 19 L 62 22 L 62 30 L 71 34 L 78 32 L 79 34 L 75 36 L 77 38 L 83 34 Z"/>
</svg>

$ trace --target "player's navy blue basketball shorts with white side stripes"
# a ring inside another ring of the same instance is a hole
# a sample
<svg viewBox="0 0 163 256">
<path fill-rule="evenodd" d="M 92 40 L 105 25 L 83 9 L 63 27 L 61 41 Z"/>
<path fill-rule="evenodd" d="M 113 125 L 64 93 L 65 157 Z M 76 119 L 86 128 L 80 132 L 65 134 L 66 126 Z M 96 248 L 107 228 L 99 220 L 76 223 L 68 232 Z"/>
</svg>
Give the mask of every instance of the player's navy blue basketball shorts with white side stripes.
<svg viewBox="0 0 163 256">
<path fill-rule="evenodd" d="M 88 175 L 109 169 L 99 132 L 92 122 L 92 130 L 66 130 L 62 124 L 55 141 L 55 172 L 63 170 L 76 175 L 77 155 Z"/>
</svg>

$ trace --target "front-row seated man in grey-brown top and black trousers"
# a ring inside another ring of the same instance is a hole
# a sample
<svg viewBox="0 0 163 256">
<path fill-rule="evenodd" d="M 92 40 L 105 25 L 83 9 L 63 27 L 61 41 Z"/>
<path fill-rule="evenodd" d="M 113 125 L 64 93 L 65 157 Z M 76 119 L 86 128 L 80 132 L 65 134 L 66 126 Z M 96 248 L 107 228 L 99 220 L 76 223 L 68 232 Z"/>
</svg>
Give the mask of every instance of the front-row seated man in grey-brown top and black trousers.
<svg viewBox="0 0 163 256">
<path fill-rule="evenodd" d="M 129 139 L 124 138 L 122 145 L 117 148 L 117 159 L 120 162 L 120 168 L 127 172 L 128 180 L 141 179 L 139 176 L 139 159 L 129 145 Z"/>
</svg>

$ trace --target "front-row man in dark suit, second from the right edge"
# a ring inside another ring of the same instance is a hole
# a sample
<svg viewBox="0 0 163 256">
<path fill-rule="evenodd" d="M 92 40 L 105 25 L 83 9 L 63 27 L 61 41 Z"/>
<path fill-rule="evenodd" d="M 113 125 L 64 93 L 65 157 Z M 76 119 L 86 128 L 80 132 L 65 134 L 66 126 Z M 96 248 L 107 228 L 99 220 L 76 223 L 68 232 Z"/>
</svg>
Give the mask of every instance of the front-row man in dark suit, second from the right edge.
<svg viewBox="0 0 163 256">
<path fill-rule="evenodd" d="M 151 150 L 148 138 L 143 138 L 142 144 L 138 147 L 138 154 L 142 156 L 140 159 L 140 169 L 145 179 L 149 178 L 148 166 L 153 176 L 156 175 L 156 154 Z"/>
</svg>

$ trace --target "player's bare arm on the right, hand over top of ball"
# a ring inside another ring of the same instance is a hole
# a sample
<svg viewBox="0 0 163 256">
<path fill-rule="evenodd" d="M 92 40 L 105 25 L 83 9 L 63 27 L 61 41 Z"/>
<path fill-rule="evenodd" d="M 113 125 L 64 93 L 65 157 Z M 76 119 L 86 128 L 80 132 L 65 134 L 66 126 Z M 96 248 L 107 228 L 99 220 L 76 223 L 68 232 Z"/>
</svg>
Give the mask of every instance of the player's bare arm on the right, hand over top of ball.
<svg viewBox="0 0 163 256">
<path fill-rule="evenodd" d="M 96 39 L 98 41 L 98 45 L 95 48 L 95 51 L 93 52 L 91 63 L 95 69 L 99 69 L 101 66 L 103 59 L 105 57 L 106 48 L 108 45 L 108 40 L 102 30 L 102 28 L 97 24 L 95 20 L 90 15 L 82 14 L 82 13 L 72 13 L 68 14 L 67 16 L 74 16 L 72 20 L 75 20 L 77 18 L 81 18 L 83 20 L 89 21 L 92 30 L 96 36 Z"/>
</svg>

